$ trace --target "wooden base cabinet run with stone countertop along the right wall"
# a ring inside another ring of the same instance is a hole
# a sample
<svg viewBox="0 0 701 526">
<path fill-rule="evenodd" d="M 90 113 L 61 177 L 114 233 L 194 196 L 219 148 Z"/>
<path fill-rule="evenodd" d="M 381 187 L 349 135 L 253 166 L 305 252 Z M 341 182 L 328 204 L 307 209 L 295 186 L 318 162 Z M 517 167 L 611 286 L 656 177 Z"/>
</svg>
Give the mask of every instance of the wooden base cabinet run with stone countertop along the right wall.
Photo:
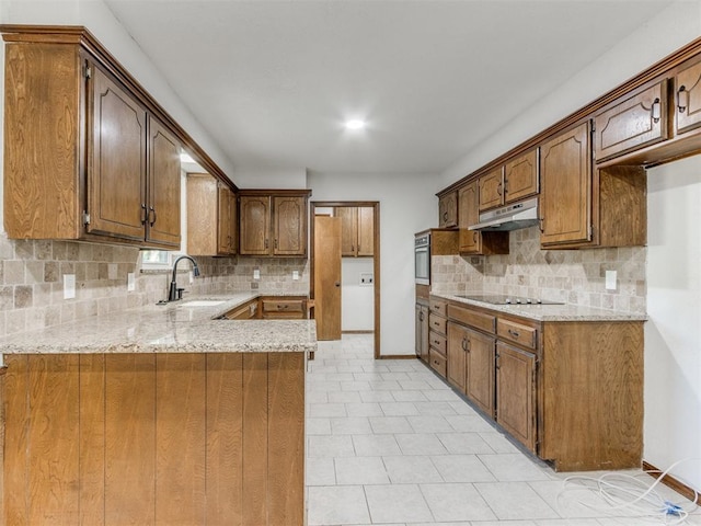
<svg viewBox="0 0 701 526">
<path fill-rule="evenodd" d="M 556 470 L 637 468 L 645 319 L 432 294 L 416 354 Z"/>
</svg>

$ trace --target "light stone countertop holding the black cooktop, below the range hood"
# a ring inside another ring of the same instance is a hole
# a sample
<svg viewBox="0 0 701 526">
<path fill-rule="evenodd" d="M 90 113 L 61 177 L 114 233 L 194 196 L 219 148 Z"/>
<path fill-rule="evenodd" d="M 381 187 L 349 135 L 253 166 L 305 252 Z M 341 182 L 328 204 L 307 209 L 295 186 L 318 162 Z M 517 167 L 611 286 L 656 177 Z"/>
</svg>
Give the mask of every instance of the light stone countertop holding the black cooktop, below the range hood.
<svg viewBox="0 0 701 526">
<path fill-rule="evenodd" d="M 478 293 L 480 294 L 480 293 Z M 451 301 L 482 307 L 496 312 L 519 316 L 536 321 L 646 321 L 646 315 L 619 312 L 616 310 L 584 307 L 581 305 L 492 305 L 461 298 L 448 293 L 432 293 L 432 296 Z"/>
</svg>

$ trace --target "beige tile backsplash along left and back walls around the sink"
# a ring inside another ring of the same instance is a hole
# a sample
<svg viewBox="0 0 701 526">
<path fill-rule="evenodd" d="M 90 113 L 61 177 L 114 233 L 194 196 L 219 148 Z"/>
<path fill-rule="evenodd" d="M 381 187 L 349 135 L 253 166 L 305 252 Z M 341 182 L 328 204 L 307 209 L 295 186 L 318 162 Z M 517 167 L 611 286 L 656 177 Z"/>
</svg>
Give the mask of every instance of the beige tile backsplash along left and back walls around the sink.
<svg viewBox="0 0 701 526">
<path fill-rule="evenodd" d="M 189 263 L 179 265 L 187 294 L 235 291 L 309 294 L 303 258 L 196 258 L 202 276 L 187 283 Z M 253 279 L 257 268 L 260 279 Z M 297 271 L 299 279 L 292 279 Z M 127 273 L 136 290 L 127 291 Z M 76 298 L 64 299 L 64 275 L 76 275 Z M 53 240 L 10 240 L 0 236 L 0 336 L 39 330 L 97 315 L 157 302 L 168 297 L 169 271 L 140 272 L 139 249 Z"/>
</svg>

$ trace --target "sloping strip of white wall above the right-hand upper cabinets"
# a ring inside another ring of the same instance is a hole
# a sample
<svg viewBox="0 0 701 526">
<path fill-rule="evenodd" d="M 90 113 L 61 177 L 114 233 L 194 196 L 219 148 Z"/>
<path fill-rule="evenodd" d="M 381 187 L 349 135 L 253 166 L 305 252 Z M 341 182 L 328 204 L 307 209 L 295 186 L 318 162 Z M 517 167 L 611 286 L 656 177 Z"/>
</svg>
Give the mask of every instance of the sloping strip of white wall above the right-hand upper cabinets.
<svg viewBox="0 0 701 526">
<path fill-rule="evenodd" d="M 634 5 L 634 2 L 631 5 Z M 551 94 L 526 108 L 520 115 L 515 115 L 508 126 L 467 151 L 440 174 L 443 187 L 586 106 L 699 35 L 701 2 L 674 2 L 631 35 L 621 35 L 621 42 L 589 67 L 562 85 L 553 87 Z M 596 38 L 595 27 L 591 30 L 591 38 Z"/>
</svg>

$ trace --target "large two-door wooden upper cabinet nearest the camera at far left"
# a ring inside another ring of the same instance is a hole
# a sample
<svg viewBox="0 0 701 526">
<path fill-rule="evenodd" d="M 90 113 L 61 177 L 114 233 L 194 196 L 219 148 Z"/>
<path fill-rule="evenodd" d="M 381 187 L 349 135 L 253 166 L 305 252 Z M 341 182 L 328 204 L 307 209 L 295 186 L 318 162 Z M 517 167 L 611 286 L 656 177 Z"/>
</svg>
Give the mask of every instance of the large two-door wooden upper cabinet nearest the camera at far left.
<svg viewBox="0 0 701 526">
<path fill-rule="evenodd" d="M 83 33 L 34 31 L 3 35 L 8 236 L 180 248 L 174 134 Z"/>
</svg>

